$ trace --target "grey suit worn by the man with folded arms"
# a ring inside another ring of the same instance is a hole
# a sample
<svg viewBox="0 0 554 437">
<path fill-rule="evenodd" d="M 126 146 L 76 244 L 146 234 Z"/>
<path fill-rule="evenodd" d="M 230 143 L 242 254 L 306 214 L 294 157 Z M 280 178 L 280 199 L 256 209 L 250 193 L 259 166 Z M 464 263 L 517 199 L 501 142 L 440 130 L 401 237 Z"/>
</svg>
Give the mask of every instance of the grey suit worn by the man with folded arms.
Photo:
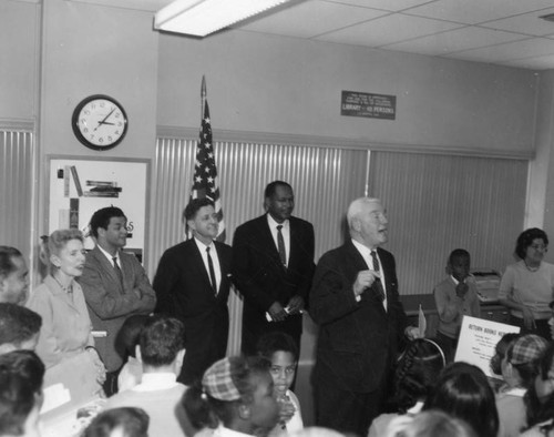
<svg viewBox="0 0 554 437">
<path fill-rule="evenodd" d="M 120 261 L 123 286 L 113 265 L 98 246 L 86 254 L 83 274 L 79 278 L 93 329 L 107 333 L 106 337 L 95 338 L 107 372 L 114 372 L 123 364 L 114 342 L 125 318 L 132 314 L 148 314 L 156 305 L 156 294 L 138 260 L 120 251 Z"/>
</svg>

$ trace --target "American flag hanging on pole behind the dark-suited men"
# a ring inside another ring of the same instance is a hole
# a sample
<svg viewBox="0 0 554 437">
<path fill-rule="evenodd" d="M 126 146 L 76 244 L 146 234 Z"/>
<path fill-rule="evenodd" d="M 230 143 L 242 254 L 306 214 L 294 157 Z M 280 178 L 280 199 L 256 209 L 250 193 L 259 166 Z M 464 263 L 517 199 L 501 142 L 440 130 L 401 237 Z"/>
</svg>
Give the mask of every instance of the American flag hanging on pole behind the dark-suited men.
<svg viewBox="0 0 554 437">
<path fill-rule="evenodd" d="M 215 166 L 215 151 L 212 142 L 212 124 L 209 121 L 209 108 L 207 100 L 204 102 L 204 116 L 202 119 L 201 138 L 196 152 L 194 166 L 193 189 L 191 200 L 208 197 L 215 204 L 215 212 L 219 221 L 217 241 L 225 241 L 225 222 L 223 220 L 222 201 L 219 199 L 219 186 L 217 185 L 217 169 Z M 188 238 L 192 233 L 187 230 Z"/>
</svg>

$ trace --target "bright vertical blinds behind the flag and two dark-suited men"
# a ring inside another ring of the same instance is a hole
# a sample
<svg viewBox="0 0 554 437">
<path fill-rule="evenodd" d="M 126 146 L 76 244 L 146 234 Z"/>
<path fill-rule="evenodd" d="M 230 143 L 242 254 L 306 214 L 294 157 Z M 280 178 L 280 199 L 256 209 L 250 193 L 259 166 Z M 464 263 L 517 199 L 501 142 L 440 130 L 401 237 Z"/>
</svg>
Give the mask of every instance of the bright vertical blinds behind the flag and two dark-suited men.
<svg viewBox="0 0 554 437">
<path fill-rule="evenodd" d="M 181 214 L 191 193 L 196 141 L 160 138 L 156 145 L 153 232 L 157 262 L 183 240 Z M 342 242 L 342 217 L 350 200 L 363 195 L 369 152 L 339 148 L 216 142 L 227 244 L 242 223 L 264 213 L 264 189 L 274 180 L 295 191 L 295 215 L 314 224 L 316 258 Z M 184 266 L 186 268 L 186 266 Z M 150 271 L 154 274 L 154 268 Z M 151 276 L 152 277 L 152 276 Z M 242 302 L 229 301 L 229 353 L 239 350 Z"/>
</svg>

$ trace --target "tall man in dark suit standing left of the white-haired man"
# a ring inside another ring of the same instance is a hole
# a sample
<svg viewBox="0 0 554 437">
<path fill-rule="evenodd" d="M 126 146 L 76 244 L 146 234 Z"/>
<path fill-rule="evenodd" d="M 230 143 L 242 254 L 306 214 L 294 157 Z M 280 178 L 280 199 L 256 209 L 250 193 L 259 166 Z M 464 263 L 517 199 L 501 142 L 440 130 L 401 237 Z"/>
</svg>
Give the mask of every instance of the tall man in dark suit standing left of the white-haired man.
<svg viewBox="0 0 554 437">
<path fill-rule="evenodd" d="M 265 190 L 267 214 L 237 227 L 233 275 L 244 296 L 242 349 L 254 354 L 266 332 L 283 331 L 300 347 L 302 311 L 314 274 L 314 226 L 293 217 L 291 186 Z"/>
</svg>

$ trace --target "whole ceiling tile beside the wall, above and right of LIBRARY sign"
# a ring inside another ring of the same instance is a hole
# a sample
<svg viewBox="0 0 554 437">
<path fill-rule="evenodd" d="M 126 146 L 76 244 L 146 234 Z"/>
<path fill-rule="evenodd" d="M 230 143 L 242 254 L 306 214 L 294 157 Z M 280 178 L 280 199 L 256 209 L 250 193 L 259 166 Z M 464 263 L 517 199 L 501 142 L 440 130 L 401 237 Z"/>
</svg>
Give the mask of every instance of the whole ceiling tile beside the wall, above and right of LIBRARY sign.
<svg viewBox="0 0 554 437">
<path fill-rule="evenodd" d="M 525 38 L 526 37 L 517 33 L 482 29 L 471 26 L 414 40 L 402 41 L 396 44 L 383 45 L 382 48 L 387 50 L 400 50 L 420 54 L 444 55 L 461 50 L 494 45 Z"/>
</svg>

